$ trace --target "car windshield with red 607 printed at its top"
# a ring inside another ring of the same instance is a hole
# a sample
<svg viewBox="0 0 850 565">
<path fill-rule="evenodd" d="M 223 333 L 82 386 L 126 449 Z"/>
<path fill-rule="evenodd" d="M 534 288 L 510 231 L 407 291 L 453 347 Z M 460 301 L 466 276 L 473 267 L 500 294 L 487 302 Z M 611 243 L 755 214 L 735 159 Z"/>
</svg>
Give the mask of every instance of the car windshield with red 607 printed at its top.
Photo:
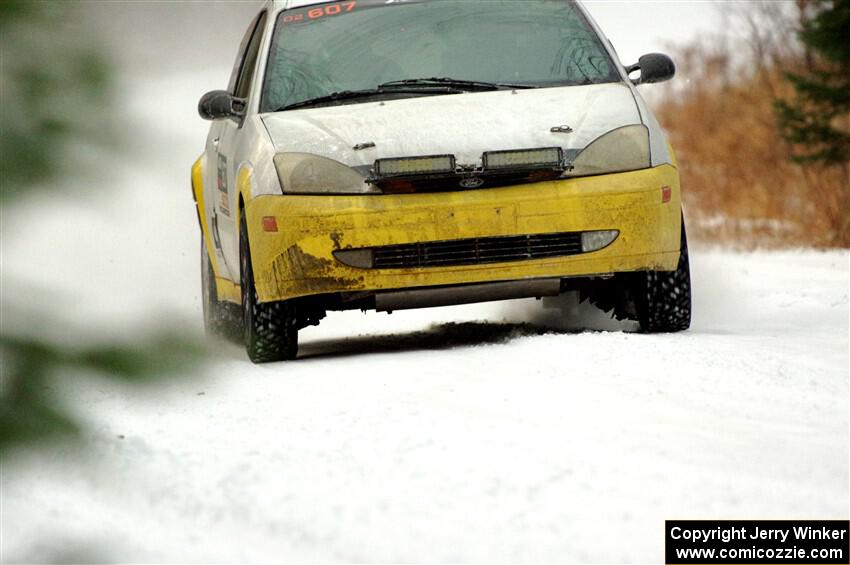
<svg viewBox="0 0 850 565">
<path fill-rule="evenodd" d="M 343 0 L 279 14 L 261 111 L 431 77 L 541 87 L 619 80 L 570 0 Z"/>
</svg>

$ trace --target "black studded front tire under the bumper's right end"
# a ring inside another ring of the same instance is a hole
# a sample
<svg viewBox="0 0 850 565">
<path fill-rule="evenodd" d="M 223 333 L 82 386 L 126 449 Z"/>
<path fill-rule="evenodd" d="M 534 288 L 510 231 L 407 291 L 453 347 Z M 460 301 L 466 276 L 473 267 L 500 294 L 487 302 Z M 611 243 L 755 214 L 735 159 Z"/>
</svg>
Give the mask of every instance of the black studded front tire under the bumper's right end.
<svg viewBox="0 0 850 565">
<path fill-rule="evenodd" d="M 641 331 L 680 332 L 691 326 L 691 269 L 684 218 L 676 270 L 641 273 L 634 294 Z"/>
</svg>

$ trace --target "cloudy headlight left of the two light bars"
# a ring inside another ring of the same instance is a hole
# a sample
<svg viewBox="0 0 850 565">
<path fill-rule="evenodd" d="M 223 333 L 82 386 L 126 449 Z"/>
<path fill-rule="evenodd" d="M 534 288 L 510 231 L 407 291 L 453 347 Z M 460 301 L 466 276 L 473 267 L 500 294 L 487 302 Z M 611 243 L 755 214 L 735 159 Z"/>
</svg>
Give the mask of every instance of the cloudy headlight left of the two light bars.
<svg viewBox="0 0 850 565">
<path fill-rule="evenodd" d="M 369 194 L 380 192 L 366 177 L 333 159 L 311 153 L 278 153 L 274 166 L 287 194 Z"/>
</svg>

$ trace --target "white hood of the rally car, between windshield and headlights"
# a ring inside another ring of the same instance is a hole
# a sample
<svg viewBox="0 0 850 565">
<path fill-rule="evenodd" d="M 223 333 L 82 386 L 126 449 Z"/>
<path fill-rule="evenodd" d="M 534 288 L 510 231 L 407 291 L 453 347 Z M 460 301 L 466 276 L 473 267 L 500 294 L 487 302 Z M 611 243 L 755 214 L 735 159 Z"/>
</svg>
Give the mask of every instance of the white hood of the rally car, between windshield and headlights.
<svg viewBox="0 0 850 565">
<path fill-rule="evenodd" d="M 538 147 L 569 154 L 612 129 L 641 123 L 631 90 L 620 83 L 385 100 L 262 119 L 276 152 L 313 153 L 351 167 L 441 154 L 478 165 L 485 151 Z M 560 126 L 572 131 L 552 131 Z"/>
</svg>

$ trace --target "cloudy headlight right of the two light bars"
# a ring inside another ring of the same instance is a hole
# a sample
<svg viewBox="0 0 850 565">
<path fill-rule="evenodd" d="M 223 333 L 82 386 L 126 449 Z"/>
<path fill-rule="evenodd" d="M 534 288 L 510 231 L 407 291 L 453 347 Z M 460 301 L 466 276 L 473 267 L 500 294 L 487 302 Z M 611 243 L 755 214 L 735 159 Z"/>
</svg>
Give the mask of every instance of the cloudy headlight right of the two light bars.
<svg viewBox="0 0 850 565">
<path fill-rule="evenodd" d="M 570 176 L 600 175 L 647 169 L 649 130 L 643 125 L 624 126 L 609 131 L 582 149 L 572 162 Z"/>
</svg>

